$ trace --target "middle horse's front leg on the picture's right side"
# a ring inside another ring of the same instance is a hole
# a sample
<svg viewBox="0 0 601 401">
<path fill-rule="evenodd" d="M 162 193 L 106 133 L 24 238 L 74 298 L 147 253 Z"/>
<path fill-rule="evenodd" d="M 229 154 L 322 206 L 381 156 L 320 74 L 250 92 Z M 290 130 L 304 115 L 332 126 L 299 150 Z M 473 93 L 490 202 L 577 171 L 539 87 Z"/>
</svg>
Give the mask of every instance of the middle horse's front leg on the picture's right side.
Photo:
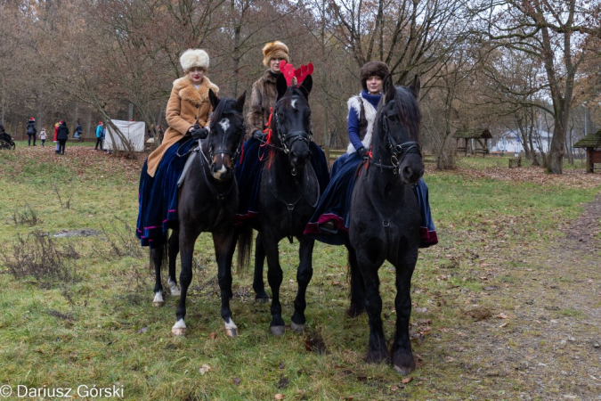
<svg viewBox="0 0 601 401">
<path fill-rule="evenodd" d="M 315 240 L 306 237 L 305 235 L 298 238 L 300 247 L 298 249 L 298 257 L 300 262 L 296 270 L 296 282 L 298 283 L 298 291 L 294 300 L 294 315 L 290 327 L 297 333 L 305 331 L 305 308 L 307 306 L 305 295 L 307 286 L 313 277 L 313 245 Z"/>
</svg>

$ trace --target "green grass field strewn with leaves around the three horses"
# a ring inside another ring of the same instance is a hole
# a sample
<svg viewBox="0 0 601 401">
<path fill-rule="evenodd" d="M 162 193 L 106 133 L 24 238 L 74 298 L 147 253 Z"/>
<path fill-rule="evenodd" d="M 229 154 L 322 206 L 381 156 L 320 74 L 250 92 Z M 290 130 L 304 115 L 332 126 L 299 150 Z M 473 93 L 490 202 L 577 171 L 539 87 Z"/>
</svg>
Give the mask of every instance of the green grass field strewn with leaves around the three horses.
<svg viewBox="0 0 601 401">
<path fill-rule="evenodd" d="M 464 352 L 458 350 L 463 348 L 458 332 L 480 327 L 464 313 L 470 299 L 494 304 L 497 313 L 509 308 L 511 293 L 494 302 L 482 294 L 492 287 L 510 289 L 521 281 L 516 271 L 540 268 L 514 258 L 516 250 L 547 250 L 560 236 L 558 222 L 578 217 L 599 193 L 597 178 L 573 170 L 572 175 L 539 179 L 528 168 L 525 176 L 507 179 L 508 169 L 502 169 L 507 160 L 498 164 L 495 158 L 459 160 L 457 171 L 426 173 L 441 242 L 420 252 L 412 290 L 419 365 L 404 378 L 387 365 L 362 361 L 367 316 L 345 317 L 345 250 L 321 243 L 315 247 L 307 291 L 310 332 L 272 337 L 269 306 L 254 301 L 250 275 L 237 274 L 231 306 L 240 336 L 231 340 L 219 315 L 212 242 L 202 234 L 195 250 L 188 334 L 174 338 L 176 299 L 152 307 L 148 253 L 134 238 L 143 160 L 94 152 L 93 143 L 68 143 L 67 154 L 57 156 L 50 144 L 18 143 L 16 151 L 0 151 L 0 386 L 8 384 L 15 392 L 18 385 L 116 386 L 128 400 L 516 399 L 524 393 L 529 399 L 549 399 L 531 392 L 517 373 L 502 380 L 480 373 L 478 364 L 485 363 L 476 361 L 481 356 L 464 354 L 472 359 L 469 368 L 450 361 Z M 82 229 L 98 235 L 53 237 Z M 63 250 L 59 259 L 67 270 L 62 275 L 17 278 L 9 273 L 20 250 L 37 250 L 35 238 L 50 239 Z M 296 294 L 296 245 L 280 242 L 287 323 Z M 380 278 L 385 331 L 391 338 L 391 266 L 382 267 Z M 566 308 L 557 315 L 579 319 L 582 312 Z M 490 333 L 502 337 L 505 330 L 497 324 Z M 314 352 L 316 340 L 321 352 Z"/>
</svg>

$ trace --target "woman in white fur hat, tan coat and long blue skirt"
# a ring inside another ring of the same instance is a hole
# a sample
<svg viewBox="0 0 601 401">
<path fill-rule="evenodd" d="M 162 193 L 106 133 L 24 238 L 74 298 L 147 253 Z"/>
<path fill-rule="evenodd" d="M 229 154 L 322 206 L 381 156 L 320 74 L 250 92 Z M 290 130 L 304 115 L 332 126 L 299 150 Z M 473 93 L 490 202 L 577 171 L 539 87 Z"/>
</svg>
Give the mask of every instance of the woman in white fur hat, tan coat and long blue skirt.
<svg viewBox="0 0 601 401">
<path fill-rule="evenodd" d="M 153 191 L 155 174 L 158 165 L 166 163 L 181 174 L 183 158 L 176 158 L 178 143 L 184 137 L 194 140 L 205 139 L 209 132 L 209 116 L 213 111 L 208 98 L 208 90 L 216 94 L 219 88 L 207 77 L 209 58 L 207 52 L 201 49 L 188 49 L 180 57 L 183 78 L 175 79 L 174 86 L 166 106 L 166 121 L 169 124 L 165 138 L 157 149 L 150 153 L 142 167 L 140 177 L 140 209 L 138 214 L 138 230 L 136 234 L 142 240 L 142 246 L 149 245 L 149 239 L 162 238 L 163 220 L 171 221 L 177 218 L 176 210 L 169 210 L 168 216 L 163 217 L 161 205 L 169 200 L 161 201 L 162 188 Z M 175 184 L 177 178 L 175 178 Z M 161 182 L 162 185 L 174 183 Z M 166 192 L 166 191 L 165 191 Z M 156 205 L 155 205 L 156 203 Z M 156 207 L 155 207 L 156 206 Z M 156 224 L 158 222 L 158 224 Z M 158 241 L 153 243 L 155 246 Z"/>
</svg>

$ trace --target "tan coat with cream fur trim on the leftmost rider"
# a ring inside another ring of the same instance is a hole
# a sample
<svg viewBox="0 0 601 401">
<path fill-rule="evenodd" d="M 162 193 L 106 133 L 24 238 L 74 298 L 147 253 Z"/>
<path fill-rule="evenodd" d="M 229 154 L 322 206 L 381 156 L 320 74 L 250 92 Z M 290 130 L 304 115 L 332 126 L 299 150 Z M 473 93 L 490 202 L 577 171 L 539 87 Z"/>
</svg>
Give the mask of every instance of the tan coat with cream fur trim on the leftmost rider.
<svg viewBox="0 0 601 401">
<path fill-rule="evenodd" d="M 148 157 L 148 174 L 154 176 L 158 164 L 163 159 L 163 154 L 169 147 L 188 134 L 188 130 L 199 124 L 207 127 L 210 123 L 208 116 L 213 111 L 208 100 L 208 90 L 213 89 L 215 94 L 219 88 L 207 77 L 203 77 L 197 90 L 188 76 L 175 79 L 174 87 L 169 96 L 166 107 L 166 121 L 169 127 L 165 132 L 165 139 L 158 148 Z"/>
</svg>

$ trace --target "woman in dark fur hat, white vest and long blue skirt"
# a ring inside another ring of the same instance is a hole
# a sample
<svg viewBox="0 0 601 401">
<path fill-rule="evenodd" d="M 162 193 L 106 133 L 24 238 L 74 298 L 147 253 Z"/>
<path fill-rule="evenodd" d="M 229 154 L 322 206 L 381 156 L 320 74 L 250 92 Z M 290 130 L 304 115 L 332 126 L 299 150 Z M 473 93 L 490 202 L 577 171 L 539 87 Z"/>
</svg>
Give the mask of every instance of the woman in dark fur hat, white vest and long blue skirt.
<svg viewBox="0 0 601 401">
<path fill-rule="evenodd" d="M 354 176 L 363 160 L 370 159 L 371 135 L 373 134 L 378 103 L 382 98 L 384 78 L 389 74 L 388 66 L 382 61 L 370 61 L 361 67 L 360 78 L 363 90 L 351 97 L 348 104 L 348 138 L 350 143 L 345 154 L 332 166 L 328 188 L 305 228 L 305 234 L 318 241 L 343 245 L 348 231 L 351 196 Z M 435 225 L 430 213 L 428 191 L 423 179 L 414 187 L 422 214 L 420 247 L 438 243 Z"/>
</svg>

